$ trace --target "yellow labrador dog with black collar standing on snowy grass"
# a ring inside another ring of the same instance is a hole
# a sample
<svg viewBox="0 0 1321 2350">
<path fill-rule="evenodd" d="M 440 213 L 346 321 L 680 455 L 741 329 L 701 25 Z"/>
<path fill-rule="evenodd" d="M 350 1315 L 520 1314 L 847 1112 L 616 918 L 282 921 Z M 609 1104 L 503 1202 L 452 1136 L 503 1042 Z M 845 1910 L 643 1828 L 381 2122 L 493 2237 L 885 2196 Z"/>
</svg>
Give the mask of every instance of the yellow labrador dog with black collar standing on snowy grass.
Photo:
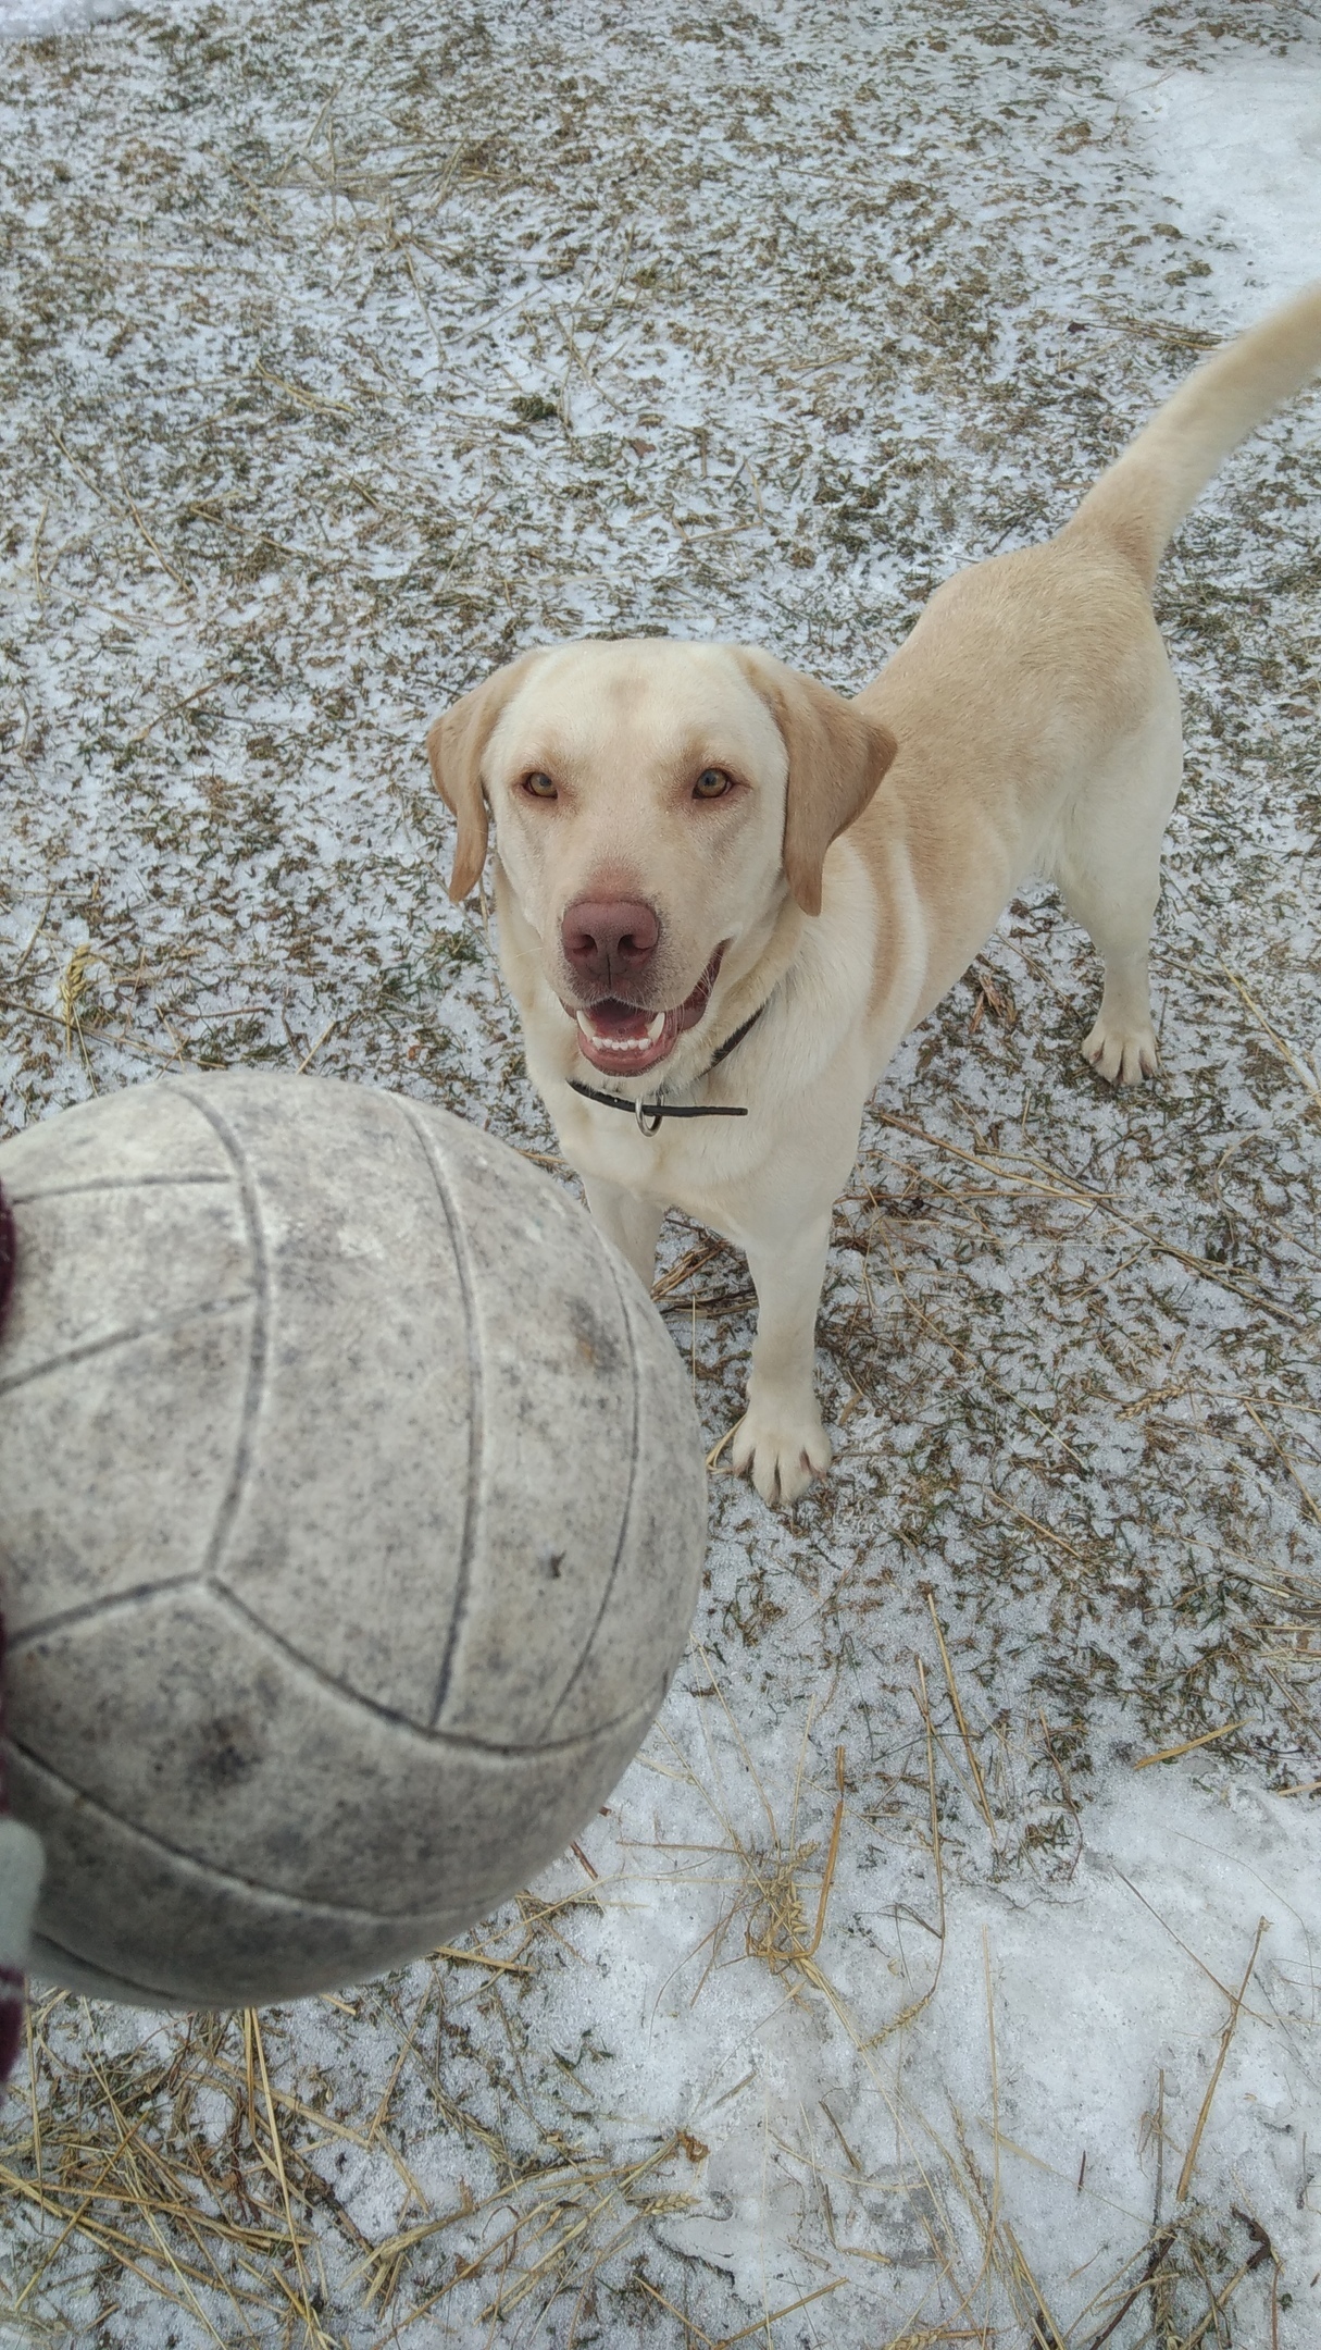
<svg viewBox="0 0 1321 2350">
<path fill-rule="evenodd" d="M 947 580 L 856 700 L 745 646 L 590 642 L 430 728 L 449 893 L 494 815 L 527 1065 L 599 1227 L 646 1283 L 670 1206 L 747 1253 L 733 1466 L 766 1502 L 830 1464 L 816 1309 L 867 1095 L 1025 874 L 1100 952 L 1086 1058 L 1156 1069 L 1180 707 L 1149 590 L 1220 461 L 1319 367 L 1314 287 L 1196 369 L 1058 538 Z"/>
</svg>

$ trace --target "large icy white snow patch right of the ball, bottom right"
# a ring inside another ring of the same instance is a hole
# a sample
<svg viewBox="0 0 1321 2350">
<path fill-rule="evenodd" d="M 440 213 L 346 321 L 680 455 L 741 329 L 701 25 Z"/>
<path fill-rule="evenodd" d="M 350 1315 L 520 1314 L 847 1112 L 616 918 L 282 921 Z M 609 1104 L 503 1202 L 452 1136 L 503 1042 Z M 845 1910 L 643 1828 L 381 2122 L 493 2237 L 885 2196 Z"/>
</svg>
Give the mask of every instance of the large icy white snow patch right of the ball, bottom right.
<svg viewBox="0 0 1321 2350">
<path fill-rule="evenodd" d="M 562 1981 L 557 2030 L 613 2052 L 616 2113 L 708 2148 L 698 2200 L 660 2232 L 724 2270 L 743 2303 L 783 2305 L 820 2282 L 823 2256 L 860 2244 L 889 2270 L 865 2284 L 856 2270 L 827 2338 L 889 2341 L 867 2326 L 914 2319 L 940 2242 L 975 2270 L 975 2174 L 1013 2214 L 1069 2341 L 1072 2326 L 1086 2338 L 1095 2289 L 1180 2209 L 1246 2202 L 1288 2275 L 1319 2251 L 1307 2146 L 1321 2127 L 1321 1875 L 1297 1805 L 1199 1777 L 1196 1758 L 1114 1774 L 1067 1882 L 954 1882 L 943 1941 L 931 1887 L 896 1901 L 893 1878 L 867 1887 L 846 1868 L 834 1899 L 853 1932 L 832 1939 L 830 1998 L 811 2002 L 785 1974 L 747 1967 L 743 1920 L 715 1932 L 719 1887 L 684 1901 L 682 1878 L 668 1894 L 637 1878 L 651 1767 L 635 1765 L 611 1828 L 585 1840 L 606 1913 L 588 1939 L 576 1929 L 597 1967 Z M 668 1845 L 684 1842 L 682 1814 L 670 1798 Z M 710 1840 L 710 1817 L 686 1826 L 693 1849 Z M 552 1871 L 541 1889 L 566 1885 Z"/>
</svg>

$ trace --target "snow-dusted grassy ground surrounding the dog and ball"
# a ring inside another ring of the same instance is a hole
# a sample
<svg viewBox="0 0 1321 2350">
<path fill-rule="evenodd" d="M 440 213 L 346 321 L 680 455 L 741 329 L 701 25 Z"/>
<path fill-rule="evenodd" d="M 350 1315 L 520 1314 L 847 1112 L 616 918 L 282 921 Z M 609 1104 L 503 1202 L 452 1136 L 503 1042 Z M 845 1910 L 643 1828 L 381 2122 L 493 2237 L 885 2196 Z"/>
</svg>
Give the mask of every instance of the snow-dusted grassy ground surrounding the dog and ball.
<svg viewBox="0 0 1321 2350">
<path fill-rule="evenodd" d="M 860 684 L 1321 268 L 1321 38 L 148 7 L 5 49 L 0 169 L 7 1126 L 310 1060 L 552 1154 L 425 719 L 578 630 Z M 1159 1086 L 1081 1067 L 1091 954 L 1025 893 L 867 1123 L 837 1471 L 792 1518 L 712 1480 L 583 1859 L 341 2002 L 40 2007 L 0 2338 L 1316 2341 L 1316 423 L 1161 578 Z M 715 1445 L 703 1248 L 663 1304 Z"/>
</svg>

